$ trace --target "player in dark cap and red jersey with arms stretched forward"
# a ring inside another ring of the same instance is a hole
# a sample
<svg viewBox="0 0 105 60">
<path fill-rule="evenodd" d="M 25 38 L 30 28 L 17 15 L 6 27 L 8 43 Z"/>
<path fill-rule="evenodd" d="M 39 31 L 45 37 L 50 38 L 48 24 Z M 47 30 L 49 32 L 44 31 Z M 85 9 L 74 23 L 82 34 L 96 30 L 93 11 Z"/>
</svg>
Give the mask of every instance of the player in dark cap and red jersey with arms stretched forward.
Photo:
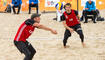
<svg viewBox="0 0 105 60">
<path fill-rule="evenodd" d="M 25 54 L 24 60 L 32 60 L 34 54 L 36 53 L 33 46 L 26 40 L 33 33 L 35 28 L 44 29 L 51 31 L 53 34 L 57 34 L 56 30 L 40 24 L 40 14 L 31 15 L 31 19 L 27 19 L 21 24 L 14 38 L 15 46 L 21 53 Z"/>
</svg>

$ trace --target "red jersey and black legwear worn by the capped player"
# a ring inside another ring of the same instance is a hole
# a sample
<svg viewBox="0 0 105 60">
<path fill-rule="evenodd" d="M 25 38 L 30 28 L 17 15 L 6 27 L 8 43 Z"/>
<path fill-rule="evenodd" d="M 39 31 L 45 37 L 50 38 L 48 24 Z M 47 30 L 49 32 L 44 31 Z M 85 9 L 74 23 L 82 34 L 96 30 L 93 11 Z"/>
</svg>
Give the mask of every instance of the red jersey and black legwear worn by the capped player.
<svg viewBox="0 0 105 60">
<path fill-rule="evenodd" d="M 14 38 L 15 46 L 21 53 L 25 54 L 24 60 L 32 60 L 34 54 L 36 53 L 36 50 L 33 48 L 33 46 L 26 40 L 36 28 L 33 26 L 34 23 L 34 20 L 27 19 L 21 24 Z"/>
</svg>

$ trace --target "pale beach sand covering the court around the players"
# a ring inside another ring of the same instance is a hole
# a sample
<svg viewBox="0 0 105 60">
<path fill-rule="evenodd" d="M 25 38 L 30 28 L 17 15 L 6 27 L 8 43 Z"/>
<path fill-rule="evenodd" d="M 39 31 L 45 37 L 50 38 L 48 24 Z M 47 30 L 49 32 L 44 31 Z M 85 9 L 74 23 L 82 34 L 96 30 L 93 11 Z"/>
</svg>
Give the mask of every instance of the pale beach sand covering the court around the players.
<svg viewBox="0 0 105 60">
<path fill-rule="evenodd" d="M 101 10 L 105 18 L 105 10 Z M 31 15 L 0 13 L 0 60 L 23 60 L 21 54 L 14 46 L 13 40 L 20 24 Z M 91 20 L 84 24 L 81 22 L 85 36 L 86 48 L 81 45 L 81 40 L 76 32 L 68 39 L 69 48 L 62 45 L 65 31 L 62 22 L 54 21 L 55 13 L 41 15 L 41 24 L 57 30 L 53 35 L 49 31 L 35 29 L 28 41 L 36 49 L 33 60 L 105 60 L 105 21 L 94 24 Z"/>
</svg>

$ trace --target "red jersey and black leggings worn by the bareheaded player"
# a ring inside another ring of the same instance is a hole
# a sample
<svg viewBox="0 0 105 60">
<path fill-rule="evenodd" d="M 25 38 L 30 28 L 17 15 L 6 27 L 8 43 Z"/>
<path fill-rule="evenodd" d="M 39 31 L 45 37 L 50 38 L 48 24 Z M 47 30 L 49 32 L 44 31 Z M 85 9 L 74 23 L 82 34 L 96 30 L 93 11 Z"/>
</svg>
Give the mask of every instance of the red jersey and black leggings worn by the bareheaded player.
<svg viewBox="0 0 105 60">
<path fill-rule="evenodd" d="M 78 12 L 75 10 L 71 10 L 71 13 L 69 14 L 64 12 L 63 15 L 61 16 L 61 20 L 66 21 L 67 26 L 69 26 L 74 31 L 76 31 L 81 38 L 81 42 L 84 42 L 84 35 L 81 29 L 81 25 L 78 21 L 77 15 L 78 15 Z M 70 36 L 71 36 L 71 32 L 68 29 L 66 29 L 64 33 L 64 39 L 63 39 L 64 46 L 66 46 L 67 39 Z"/>
</svg>

